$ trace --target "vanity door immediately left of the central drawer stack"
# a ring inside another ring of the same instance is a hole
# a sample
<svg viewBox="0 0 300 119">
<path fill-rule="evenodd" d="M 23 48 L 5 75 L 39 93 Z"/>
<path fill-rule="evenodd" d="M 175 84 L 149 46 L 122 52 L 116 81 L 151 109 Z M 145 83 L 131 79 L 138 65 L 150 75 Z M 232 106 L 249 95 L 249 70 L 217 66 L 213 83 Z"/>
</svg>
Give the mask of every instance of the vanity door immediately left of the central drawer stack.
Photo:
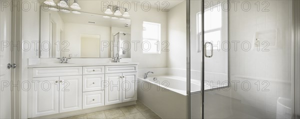
<svg viewBox="0 0 300 119">
<path fill-rule="evenodd" d="M 59 113 L 82 109 L 82 76 L 59 77 Z"/>
</svg>

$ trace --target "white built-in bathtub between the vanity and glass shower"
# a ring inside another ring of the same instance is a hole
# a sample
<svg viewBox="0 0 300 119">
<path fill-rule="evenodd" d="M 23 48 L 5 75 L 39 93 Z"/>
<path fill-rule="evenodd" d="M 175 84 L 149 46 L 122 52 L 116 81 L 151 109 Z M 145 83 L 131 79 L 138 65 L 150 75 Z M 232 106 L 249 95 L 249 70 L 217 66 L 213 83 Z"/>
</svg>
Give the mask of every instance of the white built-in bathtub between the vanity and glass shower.
<svg viewBox="0 0 300 119">
<path fill-rule="evenodd" d="M 137 99 L 163 119 L 187 116 L 186 78 L 157 76 L 138 78 Z M 191 91 L 200 91 L 200 82 L 191 80 Z"/>
</svg>

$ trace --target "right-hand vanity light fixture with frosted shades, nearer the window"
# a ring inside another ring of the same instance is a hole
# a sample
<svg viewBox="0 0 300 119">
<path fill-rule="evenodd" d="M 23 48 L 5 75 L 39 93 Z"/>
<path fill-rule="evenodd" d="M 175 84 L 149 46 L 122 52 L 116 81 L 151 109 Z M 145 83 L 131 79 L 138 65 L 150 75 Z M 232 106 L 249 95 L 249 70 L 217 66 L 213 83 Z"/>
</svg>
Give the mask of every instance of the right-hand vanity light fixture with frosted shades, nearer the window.
<svg viewBox="0 0 300 119">
<path fill-rule="evenodd" d="M 107 6 L 107 9 L 105 10 L 105 14 L 113 14 L 113 15 L 116 15 L 116 16 L 121 16 L 122 13 L 120 11 L 120 6 L 116 6 L 116 5 L 108 5 Z M 122 7 L 123 8 L 123 7 Z M 114 13 L 113 13 L 114 12 Z M 129 17 L 129 12 L 127 10 L 127 8 L 125 8 L 125 11 L 122 15 L 123 17 Z"/>
</svg>

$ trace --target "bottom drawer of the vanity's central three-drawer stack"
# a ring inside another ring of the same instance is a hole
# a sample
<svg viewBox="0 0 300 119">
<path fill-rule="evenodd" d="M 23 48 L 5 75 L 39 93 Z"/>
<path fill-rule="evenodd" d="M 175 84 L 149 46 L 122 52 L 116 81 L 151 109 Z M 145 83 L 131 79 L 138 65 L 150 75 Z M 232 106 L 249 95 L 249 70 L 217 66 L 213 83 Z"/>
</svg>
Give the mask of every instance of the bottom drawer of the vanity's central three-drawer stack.
<svg viewBox="0 0 300 119">
<path fill-rule="evenodd" d="M 104 91 L 82 93 L 82 109 L 104 106 Z"/>
</svg>

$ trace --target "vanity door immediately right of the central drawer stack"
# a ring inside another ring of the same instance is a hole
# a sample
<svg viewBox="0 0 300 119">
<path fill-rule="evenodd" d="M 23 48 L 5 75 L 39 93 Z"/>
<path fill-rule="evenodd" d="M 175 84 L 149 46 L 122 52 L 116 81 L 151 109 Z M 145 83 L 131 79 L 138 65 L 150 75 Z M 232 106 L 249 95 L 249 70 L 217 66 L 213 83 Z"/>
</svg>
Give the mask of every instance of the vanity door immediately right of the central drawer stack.
<svg viewBox="0 0 300 119">
<path fill-rule="evenodd" d="M 122 74 L 105 74 L 105 105 L 117 104 L 122 102 L 122 92 L 120 83 L 122 81 Z"/>
</svg>

